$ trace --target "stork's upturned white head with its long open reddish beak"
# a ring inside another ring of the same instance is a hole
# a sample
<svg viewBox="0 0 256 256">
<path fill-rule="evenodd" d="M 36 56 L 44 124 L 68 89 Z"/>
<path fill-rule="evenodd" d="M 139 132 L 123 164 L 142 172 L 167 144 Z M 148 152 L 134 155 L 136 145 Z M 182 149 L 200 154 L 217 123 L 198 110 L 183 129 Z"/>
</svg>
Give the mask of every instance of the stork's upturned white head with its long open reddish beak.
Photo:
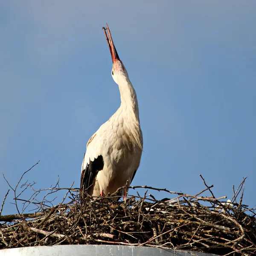
<svg viewBox="0 0 256 256">
<path fill-rule="evenodd" d="M 116 47 L 115 47 L 115 45 L 113 43 L 113 40 L 112 40 L 110 30 L 108 28 L 108 24 L 107 24 L 107 29 L 105 29 L 104 27 L 103 27 L 103 29 L 104 29 L 104 32 L 105 32 L 105 36 L 106 36 L 107 43 L 108 43 L 108 48 L 110 50 L 111 58 L 112 58 L 112 61 L 113 61 L 113 67 L 112 67 L 112 70 L 111 70 L 111 75 L 113 77 L 113 80 L 116 82 L 116 84 L 119 84 L 120 79 L 125 79 L 125 80 L 129 79 L 128 73 L 125 69 L 124 64 L 119 59 L 118 53 L 116 51 Z M 108 30 L 108 35 L 106 33 L 106 30 Z"/>
</svg>

